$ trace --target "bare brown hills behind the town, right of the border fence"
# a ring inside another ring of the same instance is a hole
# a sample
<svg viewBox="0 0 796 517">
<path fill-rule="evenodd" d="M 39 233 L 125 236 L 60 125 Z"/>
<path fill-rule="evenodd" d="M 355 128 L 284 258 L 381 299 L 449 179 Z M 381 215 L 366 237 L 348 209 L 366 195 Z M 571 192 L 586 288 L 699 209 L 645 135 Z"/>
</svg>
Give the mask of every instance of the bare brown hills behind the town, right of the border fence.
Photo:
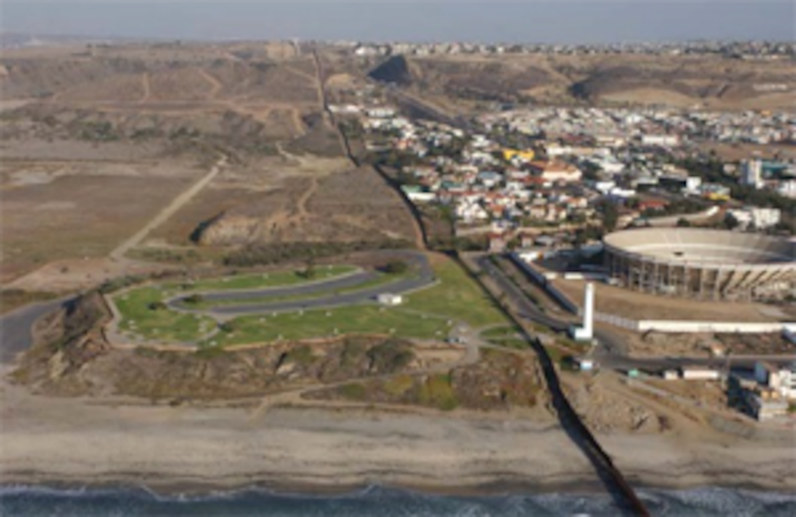
<svg viewBox="0 0 796 517">
<path fill-rule="evenodd" d="M 720 56 L 395 56 L 373 79 L 439 99 L 796 107 L 796 62 Z"/>
</svg>

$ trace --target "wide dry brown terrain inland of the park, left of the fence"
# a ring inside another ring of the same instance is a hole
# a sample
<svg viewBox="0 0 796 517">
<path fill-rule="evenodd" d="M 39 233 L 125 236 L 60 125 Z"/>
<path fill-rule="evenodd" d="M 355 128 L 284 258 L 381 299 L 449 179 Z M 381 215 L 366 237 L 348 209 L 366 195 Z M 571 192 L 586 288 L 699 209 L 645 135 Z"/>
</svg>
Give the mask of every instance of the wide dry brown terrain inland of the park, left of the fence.
<svg viewBox="0 0 796 517">
<path fill-rule="evenodd" d="M 280 241 L 414 240 L 400 197 L 342 156 L 318 73 L 292 44 L 0 52 L 0 285 L 96 286 L 152 270 L 142 251 L 221 258 L 194 240 L 228 217 Z"/>
</svg>

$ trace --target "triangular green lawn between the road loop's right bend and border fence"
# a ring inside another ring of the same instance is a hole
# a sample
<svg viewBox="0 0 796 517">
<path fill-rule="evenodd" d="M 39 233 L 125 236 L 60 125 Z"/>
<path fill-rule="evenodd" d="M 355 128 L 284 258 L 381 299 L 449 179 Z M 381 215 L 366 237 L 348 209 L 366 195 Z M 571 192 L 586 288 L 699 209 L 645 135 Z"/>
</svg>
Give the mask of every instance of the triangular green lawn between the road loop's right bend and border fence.
<svg viewBox="0 0 796 517">
<path fill-rule="evenodd" d="M 439 256 L 432 260 L 442 283 L 409 296 L 409 309 L 464 321 L 473 328 L 509 325 L 492 298 L 456 262 Z"/>
</svg>

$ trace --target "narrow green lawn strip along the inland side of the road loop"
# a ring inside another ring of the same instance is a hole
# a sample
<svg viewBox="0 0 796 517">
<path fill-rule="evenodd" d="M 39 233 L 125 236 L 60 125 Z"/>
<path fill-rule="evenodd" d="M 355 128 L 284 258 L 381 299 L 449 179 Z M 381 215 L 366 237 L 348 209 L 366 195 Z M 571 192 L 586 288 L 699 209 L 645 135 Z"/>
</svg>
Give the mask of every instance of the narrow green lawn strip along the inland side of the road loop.
<svg viewBox="0 0 796 517">
<path fill-rule="evenodd" d="M 260 274 L 242 274 L 225 278 L 209 278 L 190 284 L 187 292 L 202 291 L 231 291 L 231 290 L 256 290 L 270 287 L 296 286 L 307 282 L 321 282 L 330 278 L 337 278 L 357 270 L 354 266 L 316 266 L 312 278 L 306 278 L 302 270 L 277 271 Z M 185 284 L 168 284 L 166 287 L 178 289 Z"/>
</svg>

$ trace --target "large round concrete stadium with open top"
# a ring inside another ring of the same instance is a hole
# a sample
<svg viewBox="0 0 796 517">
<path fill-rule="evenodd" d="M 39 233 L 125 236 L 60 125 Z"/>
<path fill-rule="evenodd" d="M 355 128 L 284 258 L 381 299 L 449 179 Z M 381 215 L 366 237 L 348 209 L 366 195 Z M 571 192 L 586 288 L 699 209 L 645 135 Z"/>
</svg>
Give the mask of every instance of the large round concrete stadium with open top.
<svg viewBox="0 0 796 517">
<path fill-rule="evenodd" d="M 606 235 L 605 266 L 619 285 L 705 300 L 777 297 L 796 282 L 796 243 L 697 228 Z"/>
</svg>

